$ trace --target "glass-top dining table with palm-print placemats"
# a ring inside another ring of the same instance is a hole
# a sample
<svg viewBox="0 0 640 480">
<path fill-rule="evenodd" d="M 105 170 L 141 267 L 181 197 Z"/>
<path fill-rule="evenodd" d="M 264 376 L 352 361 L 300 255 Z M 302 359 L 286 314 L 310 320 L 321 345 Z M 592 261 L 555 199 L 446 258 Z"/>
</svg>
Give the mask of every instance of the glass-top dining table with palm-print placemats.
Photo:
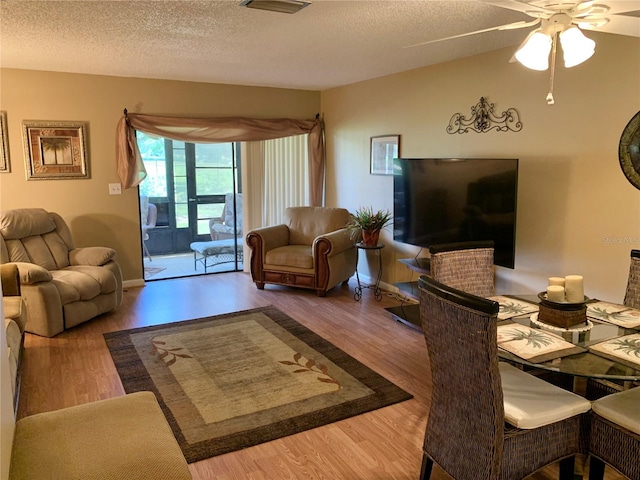
<svg viewBox="0 0 640 480">
<path fill-rule="evenodd" d="M 587 299 L 584 321 L 562 328 L 540 321 L 540 296 L 489 297 L 500 305 L 498 355 L 501 360 L 573 377 L 585 394 L 587 379 L 625 389 L 640 382 L 640 310 Z"/>
</svg>

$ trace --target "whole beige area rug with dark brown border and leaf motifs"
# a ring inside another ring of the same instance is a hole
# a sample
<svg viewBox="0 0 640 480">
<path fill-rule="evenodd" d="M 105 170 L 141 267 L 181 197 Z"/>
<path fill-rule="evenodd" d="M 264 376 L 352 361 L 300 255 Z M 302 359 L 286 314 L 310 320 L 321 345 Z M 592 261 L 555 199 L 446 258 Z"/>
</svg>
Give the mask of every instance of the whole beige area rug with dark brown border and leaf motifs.
<svg viewBox="0 0 640 480">
<path fill-rule="evenodd" d="M 104 337 L 125 391 L 156 394 L 189 463 L 412 398 L 272 306 Z"/>
</svg>

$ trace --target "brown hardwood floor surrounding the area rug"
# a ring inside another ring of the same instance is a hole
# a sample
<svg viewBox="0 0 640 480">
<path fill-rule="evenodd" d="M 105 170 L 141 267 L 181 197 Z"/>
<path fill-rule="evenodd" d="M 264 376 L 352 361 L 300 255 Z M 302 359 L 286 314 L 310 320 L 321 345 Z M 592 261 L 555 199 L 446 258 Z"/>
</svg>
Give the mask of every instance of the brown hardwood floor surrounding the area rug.
<svg viewBox="0 0 640 480">
<path fill-rule="evenodd" d="M 128 289 L 115 312 L 54 338 L 27 334 L 18 417 L 123 395 L 103 333 L 273 305 L 414 395 L 414 399 L 190 465 L 195 480 L 415 480 L 419 476 L 431 379 L 422 334 L 396 323 L 354 280 L 319 298 L 246 273 L 178 278 Z M 531 480 L 557 478 L 548 467 Z M 439 468 L 433 480 L 449 477 Z M 607 467 L 607 480 L 622 479 Z M 166 479 L 170 480 L 170 479 Z"/>
</svg>

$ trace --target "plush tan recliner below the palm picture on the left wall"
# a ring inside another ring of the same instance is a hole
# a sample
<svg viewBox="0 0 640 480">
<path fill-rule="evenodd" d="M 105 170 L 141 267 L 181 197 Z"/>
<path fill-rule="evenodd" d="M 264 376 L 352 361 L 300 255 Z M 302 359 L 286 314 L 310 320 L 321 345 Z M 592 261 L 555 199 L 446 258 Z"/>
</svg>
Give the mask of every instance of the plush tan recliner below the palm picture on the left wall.
<svg viewBox="0 0 640 480">
<path fill-rule="evenodd" d="M 0 213 L 0 263 L 15 263 L 27 305 L 26 331 L 53 337 L 122 303 L 115 250 L 75 248 L 57 213 L 41 208 Z"/>
</svg>

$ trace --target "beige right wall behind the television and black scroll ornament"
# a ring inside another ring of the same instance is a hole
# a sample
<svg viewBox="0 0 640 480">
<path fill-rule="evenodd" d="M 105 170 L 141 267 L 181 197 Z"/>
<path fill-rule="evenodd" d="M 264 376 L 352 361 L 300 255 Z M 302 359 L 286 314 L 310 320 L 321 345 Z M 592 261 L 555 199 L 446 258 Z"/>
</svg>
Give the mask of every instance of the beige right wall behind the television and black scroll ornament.
<svg viewBox="0 0 640 480">
<path fill-rule="evenodd" d="M 549 276 L 581 274 L 586 295 L 621 302 L 630 250 L 640 248 L 640 191 L 618 161 L 622 130 L 640 110 L 640 39 L 589 36 L 595 56 L 558 68 L 553 106 L 549 72 L 509 63 L 512 49 L 322 92 L 327 203 L 393 211 L 392 177 L 369 175 L 374 135 L 400 134 L 403 157 L 519 158 L 516 268 L 498 267 L 498 292 L 535 293 Z M 447 134 L 452 115 L 468 117 L 481 96 L 497 113 L 518 110 L 522 131 Z M 382 281 L 415 280 L 396 260 L 419 249 L 383 235 Z"/>
</svg>

